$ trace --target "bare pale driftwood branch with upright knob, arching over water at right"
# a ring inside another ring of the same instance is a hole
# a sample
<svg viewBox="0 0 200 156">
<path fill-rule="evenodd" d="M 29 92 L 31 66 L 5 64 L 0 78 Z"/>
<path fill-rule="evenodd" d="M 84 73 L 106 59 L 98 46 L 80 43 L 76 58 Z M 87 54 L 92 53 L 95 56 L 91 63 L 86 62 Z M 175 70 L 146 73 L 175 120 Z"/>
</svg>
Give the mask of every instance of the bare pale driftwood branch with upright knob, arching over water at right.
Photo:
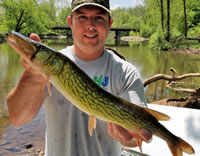
<svg viewBox="0 0 200 156">
<path fill-rule="evenodd" d="M 188 73 L 188 74 L 176 76 L 176 70 L 174 68 L 171 68 L 170 71 L 173 73 L 172 76 L 166 75 L 166 74 L 156 74 L 150 77 L 149 79 L 144 80 L 143 82 L 144 87 L 158 80 L 168 80 L 169 82 L 171 82 L 171 81 L 182 80 L 189 77 L 200 77 L 200 73 Z"/>
</svg>

